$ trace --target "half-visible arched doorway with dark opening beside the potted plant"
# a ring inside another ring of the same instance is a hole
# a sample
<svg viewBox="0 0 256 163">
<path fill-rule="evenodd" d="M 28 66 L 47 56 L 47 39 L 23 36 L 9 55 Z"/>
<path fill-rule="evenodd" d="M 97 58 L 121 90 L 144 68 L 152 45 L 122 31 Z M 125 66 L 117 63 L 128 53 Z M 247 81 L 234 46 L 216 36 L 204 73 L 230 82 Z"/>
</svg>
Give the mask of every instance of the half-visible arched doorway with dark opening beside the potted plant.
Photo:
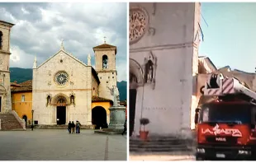
<svg viewBox="0 0 256 163">
<path fill-rule="evenodd" d="M 137 88 L 143 86 L 143 69 L 140 64 L 134 59 L 130 58 L 130 78 L 129 78 L 129 134 L 130 136 L 134 132 L 135 128 L 135 110 L 137 100 Z"/>
</svg>

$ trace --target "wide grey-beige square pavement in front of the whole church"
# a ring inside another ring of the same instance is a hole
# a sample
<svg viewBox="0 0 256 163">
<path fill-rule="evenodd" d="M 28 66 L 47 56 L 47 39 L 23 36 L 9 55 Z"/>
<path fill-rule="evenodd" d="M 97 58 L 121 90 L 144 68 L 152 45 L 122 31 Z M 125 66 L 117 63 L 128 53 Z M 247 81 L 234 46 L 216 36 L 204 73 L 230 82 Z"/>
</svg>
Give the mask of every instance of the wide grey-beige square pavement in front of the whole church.
<svg viewBox="0 0 256 163">
<path fill-rule="evenodd" d="M 126 161 L 126 136 L 93 130 L 1 131 L 1 161 Z"/>
</svg>

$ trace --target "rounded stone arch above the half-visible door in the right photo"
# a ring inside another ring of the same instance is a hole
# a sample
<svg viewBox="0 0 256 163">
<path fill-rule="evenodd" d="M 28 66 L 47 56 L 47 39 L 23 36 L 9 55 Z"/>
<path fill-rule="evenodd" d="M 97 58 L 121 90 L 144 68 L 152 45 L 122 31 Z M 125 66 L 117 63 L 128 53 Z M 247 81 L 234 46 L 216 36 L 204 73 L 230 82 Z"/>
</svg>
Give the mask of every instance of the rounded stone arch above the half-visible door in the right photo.
<svg viewBox="0 0 256 163">
<path fill-rule="evenodd" d="M 135 88 L 137 86 L 143 85 L 143 68 L 141 68 L 140 64 L 135 61 L 135 59 L 129 59 L 129 73 L 130 73 L 130 88 Z"/>
</svg>

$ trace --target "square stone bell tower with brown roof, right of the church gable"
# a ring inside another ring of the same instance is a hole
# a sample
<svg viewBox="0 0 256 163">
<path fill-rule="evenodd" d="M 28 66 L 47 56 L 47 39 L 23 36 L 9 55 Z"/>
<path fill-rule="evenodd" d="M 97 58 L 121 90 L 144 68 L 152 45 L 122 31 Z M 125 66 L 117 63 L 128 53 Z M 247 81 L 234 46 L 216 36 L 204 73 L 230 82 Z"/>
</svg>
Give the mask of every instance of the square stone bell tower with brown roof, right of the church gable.
<svg viewBox="0 0 256 163">
<path fill-rule="evenodd" d="M 95 69 L 97 76 L 101 81 L 99 86 L 99 95 L 103 98 L 114 101 L 111 89 L 117 88 L 116 46 L 106 44 L 106 41 L 104 40 L 104 44 L 94 47 L 93 51 L 95 54 Z M 116 92 L 116 94 L 117 93 L 118 92 Z"/>
</svg>

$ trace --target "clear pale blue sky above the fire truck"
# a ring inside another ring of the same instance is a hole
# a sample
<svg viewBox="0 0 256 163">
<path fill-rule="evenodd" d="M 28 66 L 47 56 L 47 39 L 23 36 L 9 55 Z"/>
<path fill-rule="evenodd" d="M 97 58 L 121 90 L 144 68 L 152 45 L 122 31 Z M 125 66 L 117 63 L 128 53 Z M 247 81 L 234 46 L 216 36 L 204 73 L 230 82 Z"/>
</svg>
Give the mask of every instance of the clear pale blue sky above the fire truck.
<svg viewBox="0 0 256 163">
<path fill-rule="evenodd" d="M 216 68 L 230 66 L 245 72 L 256 68 L 256 2 L 201 3 L 204 41 L 199 55 L 207 56 Z"/>
</svg>

